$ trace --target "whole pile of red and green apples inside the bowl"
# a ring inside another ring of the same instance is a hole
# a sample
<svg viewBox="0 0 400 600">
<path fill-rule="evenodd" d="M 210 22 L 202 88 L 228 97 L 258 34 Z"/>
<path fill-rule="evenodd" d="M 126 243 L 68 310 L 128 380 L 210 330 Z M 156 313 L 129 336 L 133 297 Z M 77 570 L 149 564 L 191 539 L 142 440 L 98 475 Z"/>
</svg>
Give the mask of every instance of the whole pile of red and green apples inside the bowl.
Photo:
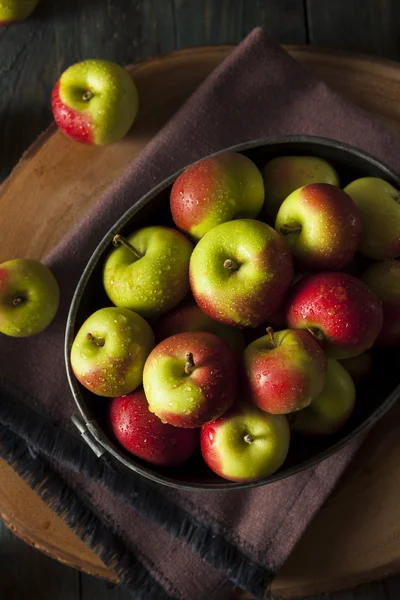
<svg viewBox="0 0 400 600">
<path fill-rule="evenodd" d="M 221 477 L 255 481 L 281 467 L 291 430 L 337 432 L 355 403 L 349 371 L 368 369 L 375 343 L 400 346 L 399 197 L 371 177 L 342 190 L 316 157 L 261 173 L 224 152 L 184 171 L 177 229 L 115 236 L 114 306 L 72 346 L 77 379 L 110 398 L 115 439 L 167 467 L 200 446 Z"/>
</svg>

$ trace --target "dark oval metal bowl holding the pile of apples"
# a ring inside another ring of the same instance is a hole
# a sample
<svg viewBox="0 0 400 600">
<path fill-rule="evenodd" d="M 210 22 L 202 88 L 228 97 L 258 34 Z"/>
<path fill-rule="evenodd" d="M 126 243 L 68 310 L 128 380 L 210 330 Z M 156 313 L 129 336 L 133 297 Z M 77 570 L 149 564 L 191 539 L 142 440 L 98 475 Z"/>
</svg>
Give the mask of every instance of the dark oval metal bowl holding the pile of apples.
<svg viewBox="0 0 400 600">
<path fill-rule="evenodd" d="M 258 167 L 276 156 L 310 155 L 328 160 L 338 171 L 342 187 L 359 177 L 386 179 L 400 188 L 400 178 L 387 166 L 349 145 L 324 138 L 293 136 L 268 138 L 229 148 L 252 159 Z M 165 469 L 153 467 L 123 450 L 113 439 L 105 419 L 108 400 L 89 392 L 75 379 L 70 364 L 70 352 L 75 334 L 95 310 L 109 306 L 102 286 L 104 260 L 112 248 L 116 233 L 129 234 L 149 224 L 172 224 L 169 213 L 169 192 L 177 176 L 166 179 L 134 204 L 115 223 L 93 253 L 72 299 L 65 339 L 65 361 L 71 391 L 81 413 L 81 432 L 98 455 L 113 463 L 114 468 L 127 468 L 155 482 L 175 488 L 197 490 L 234 490 L 265 485 L 290 477 L 324 460 L 343 448 L 355 436 L 371 427 L 400 397 L 400 351 L 375 352 L 374 366 L 357 388 L 355 411 L 349 422 L 337 434 L 321 439 L 292 435 L 289 455 L 275 474 L 256 482 L 236 483 L 212 473 L 200 456 L 182 467 Z"/>
</svg>

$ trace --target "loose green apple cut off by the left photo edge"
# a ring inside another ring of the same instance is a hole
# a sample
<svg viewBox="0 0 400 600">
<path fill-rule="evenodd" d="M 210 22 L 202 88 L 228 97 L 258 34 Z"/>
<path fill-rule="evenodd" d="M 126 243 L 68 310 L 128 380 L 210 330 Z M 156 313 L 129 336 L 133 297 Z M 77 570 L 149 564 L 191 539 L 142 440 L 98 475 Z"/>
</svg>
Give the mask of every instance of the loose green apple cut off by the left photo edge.
<svg viewBox="0 0 400 600">
<path fill-rule="evenodd" d="M 0 332 L 11 337 L 40 333 L 54 319 L 60 291 L 54 275 L 37 260 L 0 265 Z"/>
</svg>

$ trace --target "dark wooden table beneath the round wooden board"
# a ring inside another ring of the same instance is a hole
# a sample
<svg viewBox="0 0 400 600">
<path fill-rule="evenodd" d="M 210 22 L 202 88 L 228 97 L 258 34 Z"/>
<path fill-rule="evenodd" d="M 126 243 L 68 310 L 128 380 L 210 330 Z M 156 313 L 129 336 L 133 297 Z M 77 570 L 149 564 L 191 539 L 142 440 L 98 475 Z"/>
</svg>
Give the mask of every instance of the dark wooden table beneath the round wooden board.
<svg viewBox="0 0 400 600">
<path fill-rule="evenodd" d="M 176 48 L 236 43 L 257 25 L 282 43 L 400 59 L 399 0 L 41 0 L 26 23 L 0 30 L 0 179 L 49 124 L 52 86 L 71 63 L 101 57 L 128 64 Z M 36 552 L 0 522 L 1 600 L 127 598 Z M 399 598 L 400 578 L 329 596 Z"/>
</svg>

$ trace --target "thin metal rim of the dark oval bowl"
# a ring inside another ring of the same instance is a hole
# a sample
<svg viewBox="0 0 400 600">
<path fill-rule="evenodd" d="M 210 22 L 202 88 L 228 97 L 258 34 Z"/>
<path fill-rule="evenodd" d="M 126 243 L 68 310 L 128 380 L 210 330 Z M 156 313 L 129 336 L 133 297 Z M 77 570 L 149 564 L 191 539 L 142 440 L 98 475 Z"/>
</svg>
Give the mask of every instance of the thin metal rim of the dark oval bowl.
<svg viewBox="0 0 400 600">
<path fill-rule="evenodd" d="M 352 146 L 350 144 L 340 142 L 337 140 L 333 140 L 325 137 L 311 136 L 311 135 L 288 135 L 288 136 L 279 136 L 279 137 L 267 137 L 267 138 L 259 138 L 256 140 L 247 141 L 240 144 L 235 144 L 233 146 L 229 146 L 228 148 L 223 148 L 217 152 L 213 152 L 211 154 L 207 154 L 206 156 L 216 156 L 221 154 L 222 152 L 245 152 L 247 150 L 255 150 L 257 148 L 263 146 L 279 146 L 279 145 L 287 145 L 287 144 L 299 144 L 299 146 L 314 144 L 322 147 L 333 147 L 338 151 L 345 152 L 347 154 L 353 155 L 358 159 L 368 162 L 375 168 L 379 169 L 381 172 L 385 173 L 386 176 L 395 182 L 396 186 L 400 188 L 400 176 L 397 175 L 389 166 L 385 163 L 381 162 L 371 154 L 364 152 Z M 202 157 L 205 158 L 206 156 Z M 198 160 L 202 160 L 202 158 Z M 190 163 L 189 165 L 179 169 L 173 175 L 170 175 L 155 187 L 153 187 L 149 192 L 147 192 L 144 196 L 139 198 L 135 204 L 133 204 L 108 230 L 108 232 L 103 236 L 100 243 L 97 245 L 95 250 L 93 251 L 89 261 L 84 268 L 78 284 L 75 288 L 70 308 L 68 311 L 66 330 L 65 330 L 65 343 L 64 343 L 64 360 L 67 371 L 68 383 L 75 401 L 75 404 L 78 407 L 81 417 L 83 418 L 85 425 L 91 435 L 94 437 L 95 441 L 100 444 L 102 450 L 104 450 L 104 454 L 108 457 L 111 455 L 119 465 L 122 467 L 129 469 L 129 471 L 133 471 L 135 474 L 139 476 L 143 476 L 147 479 L 150 479 L 152 482 L 159 483 L 162 485 L 166 485 L 168 487 L 172 487 L 175 489 L 182 490 L 196 490 L 196 491 L 232 491 L 232 490 L 244 490 L 251 489 L 255 487 L 260 487 L 263 485 L 267 485 L 269 483 L 273 483 L 282 479 L 286 479 L 287 477 L 291 477 L 292 475 L 296 475 L 297 473 L 301 473 L 306 469 L 309 469 L 323 460 L 329 458 L 333 454 L 336 454 L 339 450 L 344 448 L 347 444 L 349 444 L 352 440 L 358 437 L 361 433 L 365 433 L 368 429 L 372 427 L 372 425 L 378 421 L 400 398 L 400 383 L 396 386 L 396 388 L 385 398 L 380 406 L 378 406 L 367 419 L 362 421 L 355 429 L 353 429 L 346 436 L 342 437 L 334 444 L 318 452 L 315 456 L 310 457 L 298 465 L 294 465 L 289 468 L 284 468 L 283 470 L 278 470 L 276 473 L 273 473 L 269 477 L 265 477 L 264 479 L 260 479 L 259 481 L 248 481 L 248 482 L 233 482 L 229 480 L 222 479 L 218 483 L 198 483 L 198 482 L 185 482 L 176 480 L 173 477 L 173 471 L 171 475 L 166 474 L 157 474 L 152 470 L 152 466 L 148 467 L 145 464 L 137 463 L 137 458 L 132 455 L 131 457 L 127 454 L 124 454 L 119 448 L 113 444 L 112 440 L 109 439 L 107 435 L 103 432 L 103 430 L 98 426 L 97 421 L 90 418 L 90 413 L 87 408 L 86 402 L 82 397 L 80 391 L 80 384 L 78 380 L 75 378 L 73 374 L 71 363 L 70 363 L 70 352 L 74 339 L 74 327 L 75 320 L 78 313 L 81 297 L 85 290 L 85 287 L 90 279 L 90 276 L 101 259 L 104 251 L 110 246 L 114 235 L 116 235 L 119 230 L 125 227 L 131 219 L 141 211 L 141 209 L 146 206 L 149 202 L 151 202 L 158 194 L 166 190 L 175 179 L 188 167 L 198 160 Z M 115 463 L 115 461 L 114 461 Z"/>
</svg>

